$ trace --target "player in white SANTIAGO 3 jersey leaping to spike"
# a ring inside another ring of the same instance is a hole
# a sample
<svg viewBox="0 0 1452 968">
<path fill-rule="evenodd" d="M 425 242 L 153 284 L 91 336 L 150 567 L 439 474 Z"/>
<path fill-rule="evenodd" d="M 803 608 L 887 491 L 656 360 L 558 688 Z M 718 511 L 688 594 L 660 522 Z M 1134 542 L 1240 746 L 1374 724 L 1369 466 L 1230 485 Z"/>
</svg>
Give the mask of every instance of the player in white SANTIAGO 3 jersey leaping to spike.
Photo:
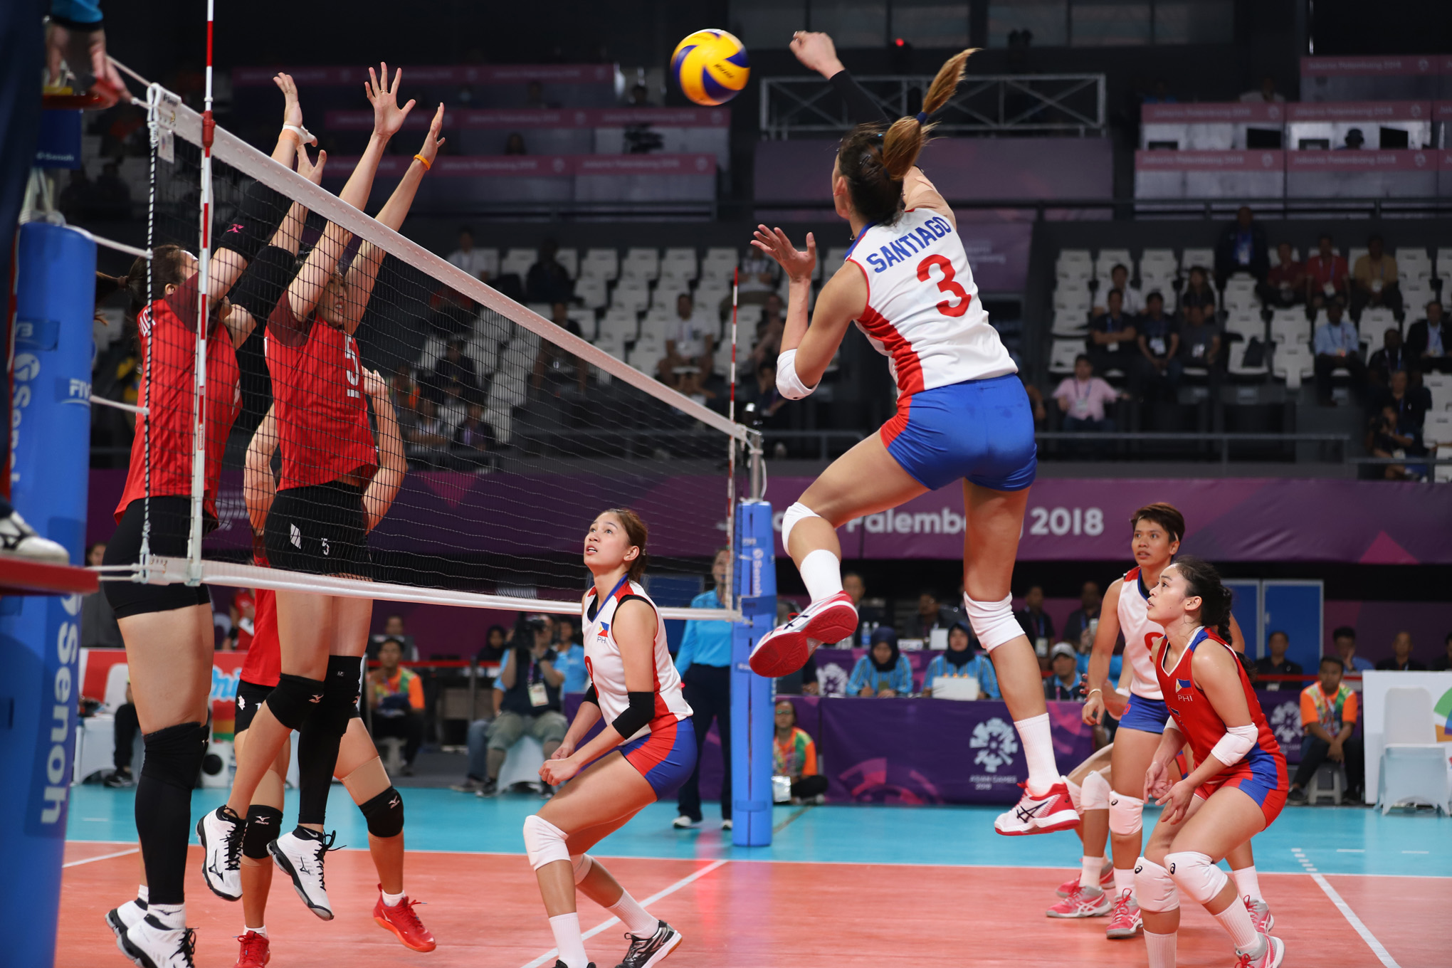
<svg viewBox="0 0 1452 968">
<path fill-rule="evenodd" d="M 916 167 L 931 129 L 926 116 L 947 103 L 968 54 L 942 65 L 923 113 L 890 126 L 860 123 L 842 139 L 832 197 L 854 241 L 847 264 L 822 287 L 810 325 L 812 234 L 806 253 L 765 225 L 752 241 L 791 284 L 777 360 L 781 395 L 807 396 L 857 321 L 890 357 L 897 415 L 835 460 L 783 515 L 781 541 L 812 604 L 762 636 L 751 668 L 787 675 L 822 641 L 857 628 L 857 608 L 842 591 L 838 527 L 964 479 L 964 611 L 993 660 L 1028 760 L 1022 800 L 993 826 L 1005 834 L 1044 833 L 1072 827 L 1077 816 L 1054 766 L 1038 660 L 1009 595 L 1037 466 L 1034 417 L 1018 367 L 979 302 L 953 209 Z"/>
</svg>

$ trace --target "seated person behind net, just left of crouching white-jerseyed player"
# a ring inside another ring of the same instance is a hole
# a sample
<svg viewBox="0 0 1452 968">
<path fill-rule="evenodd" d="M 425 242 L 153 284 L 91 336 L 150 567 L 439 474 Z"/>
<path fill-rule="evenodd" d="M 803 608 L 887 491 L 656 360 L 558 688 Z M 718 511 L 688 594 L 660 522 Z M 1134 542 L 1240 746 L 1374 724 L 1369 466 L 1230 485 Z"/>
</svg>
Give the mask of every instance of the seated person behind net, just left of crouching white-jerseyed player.
<svg viewBox="0 0 1452 968">
<path fill-rule="evenodd" d="M 559 691 L 565 684 L 565 673 L 555 668 L 559 653 L 550 647 L 550 623 L 544 615 L 530 615 L 526 628 L 524 636 L 515 636 L 510 643 L 495 682 L 502 695 L 499 714 L 488 727 L 481 797 L 492 797 L 499 791 L 499 768 L 504 766 L 510 747 L 526 733 L 540 742 L 544 759 L 549 759 L 569 729 L 560 711 Z"/>
</svg>

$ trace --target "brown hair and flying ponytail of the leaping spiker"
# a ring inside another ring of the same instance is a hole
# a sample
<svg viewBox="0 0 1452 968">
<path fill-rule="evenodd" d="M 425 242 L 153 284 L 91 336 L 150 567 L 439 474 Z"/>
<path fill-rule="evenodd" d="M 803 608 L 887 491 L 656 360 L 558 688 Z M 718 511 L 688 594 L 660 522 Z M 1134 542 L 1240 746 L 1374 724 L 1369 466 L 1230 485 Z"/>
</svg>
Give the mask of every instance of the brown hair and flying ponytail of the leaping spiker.
<svg viewBox="0 0 1452 968">
<path fill-rule="evenodd" d="M 903 179 L 918 164 L 918 155 L 935 126 L 928 122 L 928 115 L 953 97 L 974 52 L 976 48 L 948 58 L 928 86 L 922 113 L 916 118 L 899 118 L 886 129 L 881 123 L 858 125 L 842 139 L 838 170 L 847 179 L 852 208 L 868 222 L 892 225 L 897 221 L 903 205 Z"/>
</svg>

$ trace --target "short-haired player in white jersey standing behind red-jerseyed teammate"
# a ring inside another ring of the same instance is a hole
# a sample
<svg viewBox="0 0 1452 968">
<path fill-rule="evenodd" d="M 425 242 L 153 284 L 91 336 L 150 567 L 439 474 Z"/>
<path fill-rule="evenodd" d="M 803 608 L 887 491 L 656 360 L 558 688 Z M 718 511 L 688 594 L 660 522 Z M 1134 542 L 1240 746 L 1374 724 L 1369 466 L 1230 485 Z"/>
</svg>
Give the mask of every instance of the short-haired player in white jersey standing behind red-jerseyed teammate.
<svg viewBox="0 0 1452 968">
<path fill-rule="evenodd" d="M 1111 939 L 1134 938 L 1140 930 L 1140 908 L 1134 900 L 1134 866 L 1141 848 L 1144 771 L 1169 720 L 1150 657 L 1150 643 L 1165 630 L 1147 617 L 1149 589 L 1160 581 L 1160 575 L 1179 550 L 1180 538 L 1185 536 L 1185 517 L 1173 505 L 1150 504 L 1130 515 L 1130 549 L 1135 567 L 1109 585 L 1105 592 L 1093 653 L 1089 656 L 1089 698 L 1083 710 L 1086 723 L 1099 723 L 1106 708 L 1119 720 L 1111 760 L 1114 794 L 1109 797 L 1114 911 L 1105 927 L 1105 936 Z M 1121 633 L 1124 662 L 1130 675 L 1128 679 L 1121 676 L 1119 684 L 1122 688 L 1128 682 L 1128 700 L 1108 684 L 1109 657 Z M 1234 618 L 1230 618 L 1230 643 L 1237 652 L 1244 650 L 1244 639 Z M 1237 869 L 1237 882 L 1244 881 L 1247 894 L 1263 907 L 1249 845 L 1237 848 L 1231 866 Z M 1077 910 L 1085 908 L 1079 906 Z M 1098 908 L 1092 914 L 1077 916 L 1093 914 L 1098 914 Z M 1269 917 L 1269 908 L 1265 908 L 1265 916 Z"/>
</svg>

